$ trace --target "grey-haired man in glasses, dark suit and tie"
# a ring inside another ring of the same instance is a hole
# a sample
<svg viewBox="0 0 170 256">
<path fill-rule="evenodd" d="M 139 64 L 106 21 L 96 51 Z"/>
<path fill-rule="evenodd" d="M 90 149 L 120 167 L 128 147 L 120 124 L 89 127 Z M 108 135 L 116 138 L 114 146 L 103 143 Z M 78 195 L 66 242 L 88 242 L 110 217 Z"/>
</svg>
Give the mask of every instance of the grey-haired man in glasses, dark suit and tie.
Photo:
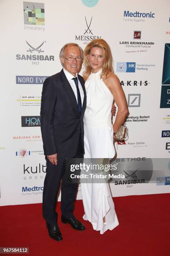
<svg viewBox="0 0 170 256">
<path fill-rule="evenodd" d="M 76 230 L 85 230 L 74 215 L 76 183 L 63 179 L 66 158 L 83 158 L 83 116 L 86 92 L 83 78 L 77 74 L 82 65 L 83 51 L 77 44 L 66 44 L 60 51 L 61 72 L 48 77 L 42 88 L 41 133 L 47 161 L 42 211 L 49 236 L 57 241 L 62 234 L 57 225 L 55 205 L 61 183 L 61 220 Z"/>
</svg>

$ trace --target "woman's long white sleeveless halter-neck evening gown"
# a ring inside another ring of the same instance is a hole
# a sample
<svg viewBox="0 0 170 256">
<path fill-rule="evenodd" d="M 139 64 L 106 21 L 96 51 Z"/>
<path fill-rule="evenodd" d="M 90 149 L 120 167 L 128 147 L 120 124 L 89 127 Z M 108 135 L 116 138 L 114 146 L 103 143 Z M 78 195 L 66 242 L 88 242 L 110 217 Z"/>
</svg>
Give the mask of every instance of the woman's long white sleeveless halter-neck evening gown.
<svg viewBox="0 0 170 256">
<path fill-rule="evenodd" d="M 87 159 L 112 159 L 115 156 L 111 123 L 113 96 L 100 79 L 101 71 L 91 73 L 85 83 L 87 107 L 84 115 L 84 158 Z M 119 225 L 108 182 L 81 182 L 81 190 L 85 210 L 83 219 L 90 221 L 94 230 L 100 230 L 100 234 L 103 234 L 107 229 L 112 230 Z"/>
</svg>

